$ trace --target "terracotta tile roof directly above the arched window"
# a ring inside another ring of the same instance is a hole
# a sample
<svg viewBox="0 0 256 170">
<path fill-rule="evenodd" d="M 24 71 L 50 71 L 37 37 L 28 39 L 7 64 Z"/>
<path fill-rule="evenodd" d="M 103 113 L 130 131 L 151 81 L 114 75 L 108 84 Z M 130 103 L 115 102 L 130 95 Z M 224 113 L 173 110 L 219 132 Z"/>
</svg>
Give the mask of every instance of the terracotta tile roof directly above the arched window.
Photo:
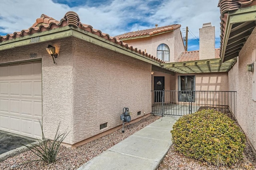
<svg viewBox="0 0 256 170">
<path fill-rule="evenodd" d="M 115 36 L 115 38 L 124 39 L 124 38 L 140 37 L 140 36 L 152 36 L 154 34 L 163 33 L 166 31 L 177 30 L 178 28 L 180 28 L 180 26 L 181 26 L 180 24 L 173 24 L 170 26 L 163 26 L 163 27 L 150 28 L 146 30 L 128 32 L 125 34 L 121 34 L 119 36 Z"/>
</svg>

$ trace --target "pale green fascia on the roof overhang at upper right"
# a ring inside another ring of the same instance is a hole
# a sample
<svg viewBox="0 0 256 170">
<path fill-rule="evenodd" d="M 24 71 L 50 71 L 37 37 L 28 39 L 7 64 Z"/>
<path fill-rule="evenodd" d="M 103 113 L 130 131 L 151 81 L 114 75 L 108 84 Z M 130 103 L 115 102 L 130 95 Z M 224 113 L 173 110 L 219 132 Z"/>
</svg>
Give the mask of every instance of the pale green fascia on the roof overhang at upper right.
<svg viewBox="0 0 256 170">
<path fill-rule="evenodd" d="M 249 7 L 240 8 L 238 10 L 228 12 L 224 43 L 222 45 L 222 56 L 220 56 L 222 59 L 222 62 L 224 62 L 224 55 L 225 55 L 224 51 L 226 51 L 226 46 L 228 43 L 232 25 L 240 22 L 255 21 L 256 20 L 255 12 L 256 12 L 256 6 L 249 6 Z"/>
</svg>

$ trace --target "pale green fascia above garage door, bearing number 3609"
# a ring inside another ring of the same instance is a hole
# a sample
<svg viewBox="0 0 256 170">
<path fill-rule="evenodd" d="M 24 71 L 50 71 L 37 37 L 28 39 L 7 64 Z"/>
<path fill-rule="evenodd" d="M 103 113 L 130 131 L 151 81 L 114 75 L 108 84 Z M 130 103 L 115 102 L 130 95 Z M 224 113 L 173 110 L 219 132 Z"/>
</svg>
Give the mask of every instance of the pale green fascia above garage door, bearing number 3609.
<svg viewBox="0 0 256 170">
<path fill-rule="evenodd" d="M 51 35 L 51 36 L 49 36 L 49 35 Z M 31 34 L 31 35 L 13 38 L 11 40 L 6 40 L 3 42 L 0 42 L 0 51 L 15 48 L 15 47 L 20 47 L 20 46 L 24 46 L 24 45 L 30 45 L 30 44 L 32 44 L 31 39 L 36 38 L 36 37 L 39 37 L 39 41 L 36 43 L 41 43 L 41 42 L 46 42 L 46 41 L 50 41 L 50 40 L 66 38 L 66 37 L 70 37 L 70 36 L 72 36 L 71 27 L 64 26 L 61 28 L 55 28 L 55 29 L 48 30 L 48 31 L 37 32 L 37 33 Z"/>
</svg>

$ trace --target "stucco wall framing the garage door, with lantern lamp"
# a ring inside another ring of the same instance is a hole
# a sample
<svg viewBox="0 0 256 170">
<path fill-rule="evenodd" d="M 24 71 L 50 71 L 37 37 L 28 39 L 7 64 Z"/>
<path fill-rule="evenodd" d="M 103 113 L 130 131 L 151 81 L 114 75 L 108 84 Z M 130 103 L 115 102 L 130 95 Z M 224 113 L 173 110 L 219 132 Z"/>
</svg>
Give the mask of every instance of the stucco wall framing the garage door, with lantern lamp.
<svg viewBox="0 0 256 170">
<path fill-rule="evenodd" d="M 56 65 L 45 48 L 48 43 L 56 47 L 59 54 Z M 61 45 L 59 45 L 61 44 Z M 46 138 L 53 139 L 58 123 L 60 131 L 70 131 L 64 142 L 70 143 L 73 136 L 72 103 L 72 58 L 70 42 L 66 40 L 35 43 L 14 49 L 0 51 L 0 63 L 42 59 L 42 123 Z M 36 53 L 36 58 L 30 58 Z"/>
</svg>

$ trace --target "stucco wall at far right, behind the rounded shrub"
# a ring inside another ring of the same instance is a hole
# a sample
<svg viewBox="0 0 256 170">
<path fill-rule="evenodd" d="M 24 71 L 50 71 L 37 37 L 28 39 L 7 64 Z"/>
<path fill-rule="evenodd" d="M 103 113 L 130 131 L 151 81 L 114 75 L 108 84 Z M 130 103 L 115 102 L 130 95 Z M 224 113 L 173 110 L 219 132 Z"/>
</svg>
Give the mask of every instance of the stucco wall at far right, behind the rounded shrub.
<svg viewBox="0 0 256 170">
<path fill-rule="evenodd" d="M 253 62 L 252 51 L 256 48 L 255 39 L 256 29 L 240 51 L 237 63 L 228 72 L 229 90 L 237 91 L 236 119 L 254 149 L 256 148 L 256 102 L 252 100 L 253 73 L 246 71 L 246 65 Z"/>
</svg>

